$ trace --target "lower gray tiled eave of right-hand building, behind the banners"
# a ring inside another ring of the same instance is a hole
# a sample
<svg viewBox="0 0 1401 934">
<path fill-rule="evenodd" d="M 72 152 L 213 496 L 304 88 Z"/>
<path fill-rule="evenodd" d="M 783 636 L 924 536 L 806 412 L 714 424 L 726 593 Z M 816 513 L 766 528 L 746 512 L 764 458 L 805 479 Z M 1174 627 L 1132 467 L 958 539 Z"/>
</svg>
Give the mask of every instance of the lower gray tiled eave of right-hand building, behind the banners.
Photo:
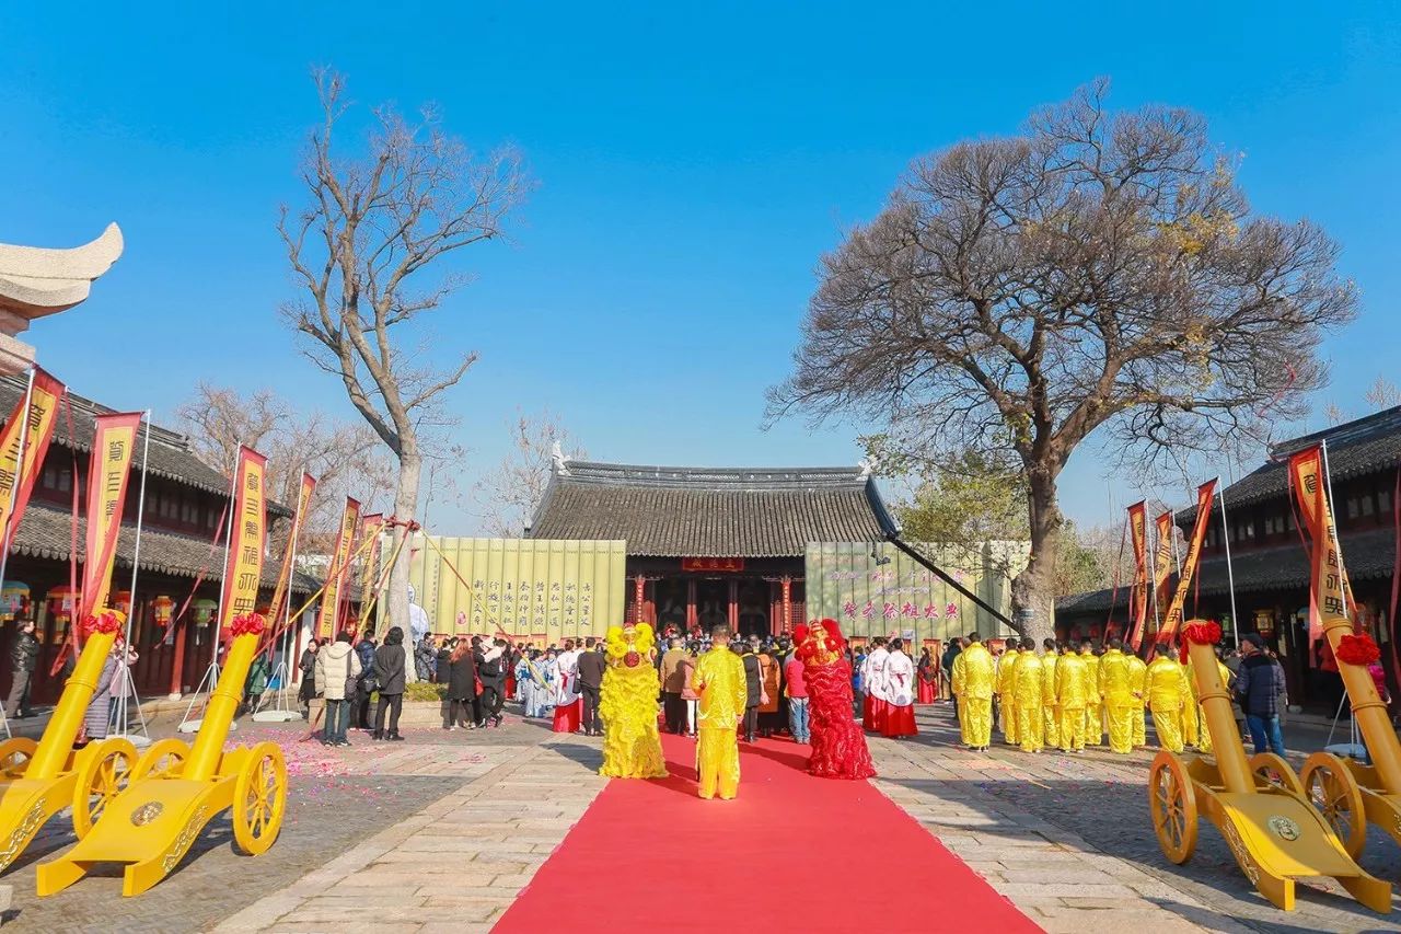
<svg viewBox="0 0 1401 934">
<path fill-rule="evenodd" d="M 1391 576 L 1395 562 L 1394 530 L 1369 529 L 1367 532 L 1342 533 L 1339 544 L 1351 581 Z M 1272 548 L 1237 551 L 1231 555 L 1231 572 L 1236 579 L 1236 593 L 1309 589 L 1309 555 L 1299 541 Z M 1199 583 L 1201 593 L 1217 596 L 1230 592 L 1224 555 L 1212 555 L 1202 561 Z M 1066 616 L 1108 613 L 1112 595 L 1112 588 L 1072 593 L 1058 599 L 1055 609 L 1056 613 Z M 1115 613 L 1126 611 L 1128 599 L 1129 588 L 1119 586 L 1118 595 L 1112 600 Z M 1188 606 L 1191 606 L 1191 597 L 1188 597 Z"/>
</svg>

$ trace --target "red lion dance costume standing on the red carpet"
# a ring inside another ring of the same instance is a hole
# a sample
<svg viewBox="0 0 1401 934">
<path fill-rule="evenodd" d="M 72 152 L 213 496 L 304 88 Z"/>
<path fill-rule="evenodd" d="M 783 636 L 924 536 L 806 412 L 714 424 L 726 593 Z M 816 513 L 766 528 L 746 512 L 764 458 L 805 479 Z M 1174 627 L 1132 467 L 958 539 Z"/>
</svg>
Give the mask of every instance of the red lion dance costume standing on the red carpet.
<svg viewBox="0 0 1401 934">
<path fill-rule="evenodd" d="M 852 666 L 836 620 L 822 620 L 794 631 L 797 656 L 807 680 L 813 718 L 813 756 L 807 770 L 821 778 L 873 778 L 866 735 L 852 719 Z"/>
</svg>

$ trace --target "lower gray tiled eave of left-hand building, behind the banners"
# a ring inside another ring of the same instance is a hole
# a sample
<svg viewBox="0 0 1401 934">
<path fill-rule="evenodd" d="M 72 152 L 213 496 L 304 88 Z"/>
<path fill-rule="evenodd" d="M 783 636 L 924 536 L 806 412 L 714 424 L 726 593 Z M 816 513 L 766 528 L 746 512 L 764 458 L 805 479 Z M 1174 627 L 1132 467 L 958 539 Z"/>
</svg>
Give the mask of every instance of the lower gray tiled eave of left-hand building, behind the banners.
<svg viewBox="0 0 1401 934">
<path fill-rule="evenodd" d="M 87 522 L 78 519 L 78 561 L 84 558 L 84 536 Z M 24 554 L 35 558 L 49 558 L 53 561 L 67 561 L 73 550 L 73 524 L 70 513 L 63 509 L 52 509 L 43 503 L 29 503 L 24 512 L 24 519 L 15 532 L 14 541 L 10 543 L 11 554 Z M 181 578 L 193 578 L 203 569 L 209 581 L 223 581 L 224 578 L 224 548 L 213 550 L 210 557 L 209 539 L 195 539 L 154 529 L 142 530 L 142 569 L 157 574 L 168 574 Z M 122 523 L 122 532 L 116 540 L 116 567 L 130 571 L 133 551 L 136 547 L 136 526 Z M 265 561 L 262 585 L 272 588 L 277 582 L 280 562 Z M 118 574 L 118 581 L 125 581 L 125 575 Z M 319 582 L 305 574 L 297 574 L 294 590 L 310 592 L 319 586 Z"/>
</svg>

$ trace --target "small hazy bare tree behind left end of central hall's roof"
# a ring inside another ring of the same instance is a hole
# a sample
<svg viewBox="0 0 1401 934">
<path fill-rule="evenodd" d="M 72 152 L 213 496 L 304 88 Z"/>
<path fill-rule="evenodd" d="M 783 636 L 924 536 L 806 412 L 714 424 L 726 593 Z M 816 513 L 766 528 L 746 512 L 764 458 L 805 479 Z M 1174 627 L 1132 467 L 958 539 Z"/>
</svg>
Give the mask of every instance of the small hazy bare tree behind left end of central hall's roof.
<svg viewBox="0 0 1401 934">
<path fill-rule="evenodd" d="M 588 456 L 549 410 L 535 415 L 517 411 L 510 432 L 510 453 L 472 487 L 482 527 L 490 536 L 525 534 L 549 484 L 556 452 L 572 459 Z"/>
</svg>

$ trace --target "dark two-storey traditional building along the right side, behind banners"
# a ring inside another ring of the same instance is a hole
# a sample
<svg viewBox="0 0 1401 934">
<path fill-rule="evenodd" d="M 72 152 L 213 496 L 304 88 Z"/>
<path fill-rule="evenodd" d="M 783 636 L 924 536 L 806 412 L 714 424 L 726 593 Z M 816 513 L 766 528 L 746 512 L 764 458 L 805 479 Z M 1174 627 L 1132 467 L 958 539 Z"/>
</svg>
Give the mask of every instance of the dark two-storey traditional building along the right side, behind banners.
<svg viewBox="0 0 1401 934">
<path fill-rule="evenodd" d="M 1233 630 L 1259 632 L 1283 662 L 1290 703 L 1328 705 L 1337 703 L 1338 686 L 1321 670 L 1321 645 L 1309 637 L 1309 557 L 1286 464 L 1290 454 L 1320 442 L 1327 442 L 1328 447 L 1339 546 L 1359 623 L 1381 645 L 1383 659 L 1393 658 L 1391 641 L 1397 638 L 1393 583 L 1401 532 L 1397 513 L 1401 407 L 1281 442 L 1271 447 L 1261 467 L 1227 487 L 1224 515 L 1229 522 L 1223 522 L 1217 501 L 1202 551 L 1199 582 L 1185 610 L 1188 617 L 1220 620 L 1227 641 Z M 1195 505 L 1175 515 L 1184 536 L 1191 534 L 1195 520 Z M 1231 582 L 1236 618 L 1231 618 Z M 1056 630 L 1062 637 L 1096 637 L 1111 618 L 1122 632 L 1128 618 L 1126 586 L 1117 592 L 1077 593 L 1056 603 Z M 1395 672 L 1388 668 L 1388 675 L 1394 677 Z"/>
</svg>

